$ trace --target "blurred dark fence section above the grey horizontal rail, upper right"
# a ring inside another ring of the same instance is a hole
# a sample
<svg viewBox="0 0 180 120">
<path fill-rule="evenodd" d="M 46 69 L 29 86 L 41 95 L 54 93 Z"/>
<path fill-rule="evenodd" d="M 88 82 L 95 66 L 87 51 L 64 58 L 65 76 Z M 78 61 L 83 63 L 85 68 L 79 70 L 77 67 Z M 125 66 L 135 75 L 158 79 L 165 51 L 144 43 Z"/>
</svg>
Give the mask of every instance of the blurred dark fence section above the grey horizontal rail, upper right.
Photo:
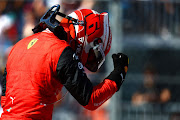
<svg viewBox="0 0 180 120">
<path fill-rule="evenodd" d="M 122 0 L 121 5 L 124 32 L 179 35 L 179 1 Z"/>
</svg>

